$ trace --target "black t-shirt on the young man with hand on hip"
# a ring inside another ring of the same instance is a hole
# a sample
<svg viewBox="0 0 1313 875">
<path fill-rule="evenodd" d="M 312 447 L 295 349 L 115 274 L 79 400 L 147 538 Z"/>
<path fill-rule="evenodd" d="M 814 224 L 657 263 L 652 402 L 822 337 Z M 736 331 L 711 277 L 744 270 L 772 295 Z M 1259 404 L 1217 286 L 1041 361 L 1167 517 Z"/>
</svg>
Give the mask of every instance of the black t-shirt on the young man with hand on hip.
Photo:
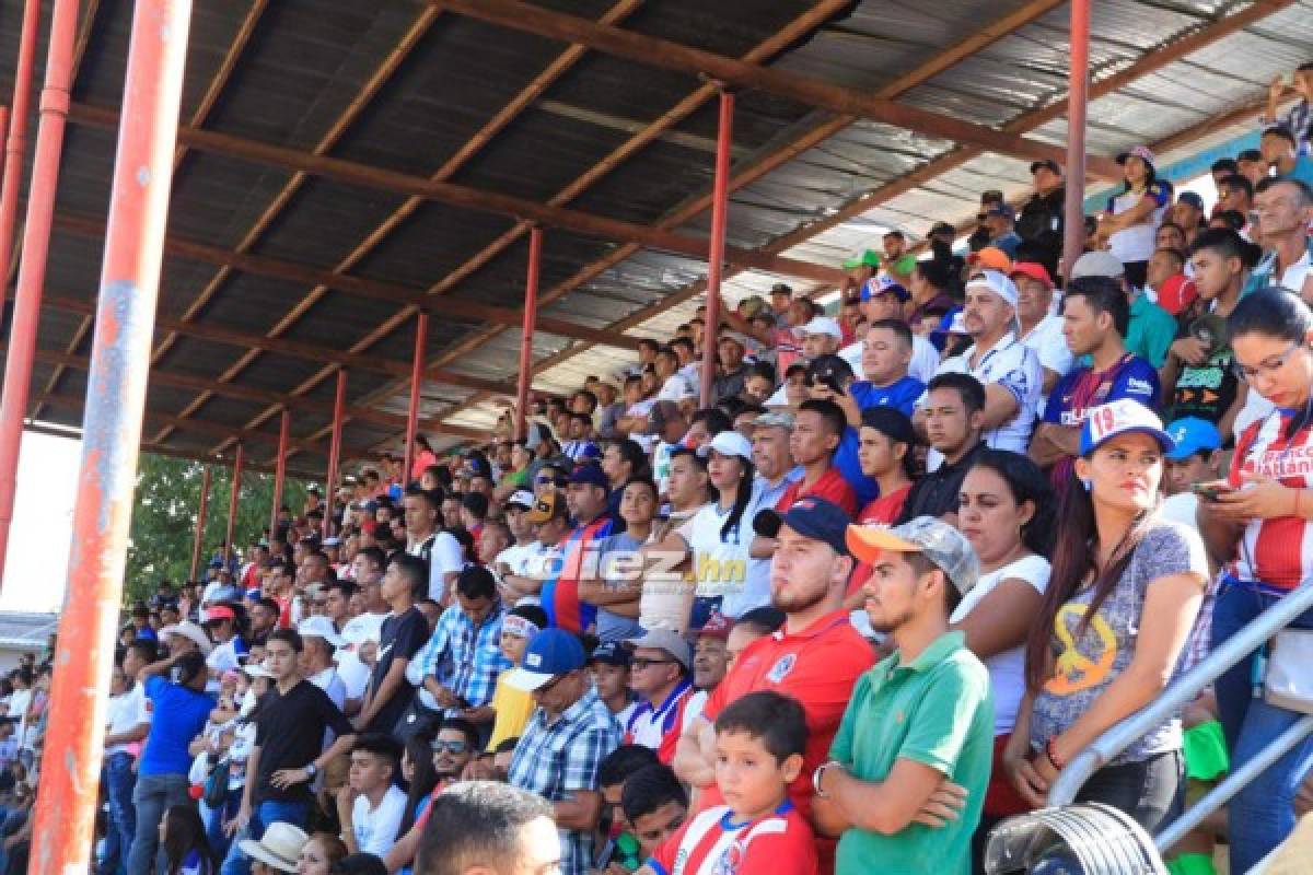
<svg viewBox="0 0 1313 875">
<path fill-rule="evenodd" d="M 351 720 L 332 703 L 328 694 L 302 680 L 280 695 L 268 694 L 255 719 L 255 743 L 260 748 L 260 775 L 255 802 L 309 802 L 310 784 L 303 781 L 278 790 L 269 779 L 280 769 L 303 769 L 323 753 L 324 729 L 351 735 Z"/>
</svg>

